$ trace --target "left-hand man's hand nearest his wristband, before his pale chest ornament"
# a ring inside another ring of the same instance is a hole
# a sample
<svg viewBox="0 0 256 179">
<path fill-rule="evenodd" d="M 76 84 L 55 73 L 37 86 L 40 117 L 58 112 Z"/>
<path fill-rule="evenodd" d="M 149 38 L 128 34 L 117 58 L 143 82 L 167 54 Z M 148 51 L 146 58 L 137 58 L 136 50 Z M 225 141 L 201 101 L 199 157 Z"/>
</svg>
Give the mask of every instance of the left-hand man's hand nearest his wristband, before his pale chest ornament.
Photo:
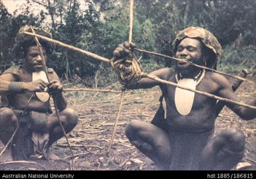
<svg viewBox="0 0 256 179">
<path fill-rule="evenodd" d="M 48 83 L 44 80 L 35 80 L 33 82 L 23 83 L 23 88 L 29 92 L 41 92 L 45 91 L 47 88 Z"/>
</svg>

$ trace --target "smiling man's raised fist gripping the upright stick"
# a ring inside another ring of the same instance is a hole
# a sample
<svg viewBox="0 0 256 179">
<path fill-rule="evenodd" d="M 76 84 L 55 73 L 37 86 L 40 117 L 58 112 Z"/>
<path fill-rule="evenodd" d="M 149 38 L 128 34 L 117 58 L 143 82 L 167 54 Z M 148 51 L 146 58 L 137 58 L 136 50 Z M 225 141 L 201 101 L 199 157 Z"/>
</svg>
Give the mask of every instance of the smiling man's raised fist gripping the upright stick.
<svg viewBox="0 0 256 179">
<path fill-rule="evenodd" d="M 113 52 L 114 58 L 116 59 L 125 58 L 132 52 L 134 47 L 135 47 L 135 44 L 132 42 L 130 43 L 124 42 L 122 44 L 119 44 L 118 47 Z"/>
</svg>

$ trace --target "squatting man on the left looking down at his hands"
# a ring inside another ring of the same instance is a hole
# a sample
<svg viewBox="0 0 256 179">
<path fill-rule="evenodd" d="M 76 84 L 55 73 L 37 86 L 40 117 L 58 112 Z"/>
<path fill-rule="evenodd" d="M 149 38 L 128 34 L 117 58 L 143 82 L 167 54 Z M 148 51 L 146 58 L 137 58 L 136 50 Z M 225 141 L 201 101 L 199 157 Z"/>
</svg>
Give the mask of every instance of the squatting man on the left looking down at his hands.
<svg viewBox="0 0 256 179">
<path fill-rule="evenodd" d="M 75 111 L 66 108 L 63 85 L 56 72 L 53 68 L 45 72 L 51 44 L 39 40 L 40 49 L 33 36 L 23 34 L 26 30 L 31 32 L 26 26 L 17 33 L 13 50 L 25 58 L 23 64 L 11 66 L 0 76 L 0 140 L 8 144 L 1 161 L 25 160 L 38 154 L 49 160 L 58 159 L 50 147 L 64 135 L 59 119 L 66 133 L 78 122 Z M 51 38 L 51 34 L 41 29 L 35 29 L 35 33 Z M 59 119 L 56 111 L 51 110 L 50 97 L 59 110 Z M 10 141 L 15 129 L 17 132 Z"/>
</svg>

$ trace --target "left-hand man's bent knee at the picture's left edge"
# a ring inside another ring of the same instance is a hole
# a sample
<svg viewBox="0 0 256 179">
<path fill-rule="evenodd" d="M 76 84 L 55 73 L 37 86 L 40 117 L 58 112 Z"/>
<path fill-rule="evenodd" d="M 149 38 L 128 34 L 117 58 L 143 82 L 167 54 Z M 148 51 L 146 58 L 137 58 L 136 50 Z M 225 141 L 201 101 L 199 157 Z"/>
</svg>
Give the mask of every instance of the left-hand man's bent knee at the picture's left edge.
<svg viewBox="0 0 256 179">
<path fill-rule="evenodd" d="M 17 117 L 13 110 L 8 107 L 0 108 L 0 123 L 11 123 L 13 125 L 16 125 Z"/>
</svg>

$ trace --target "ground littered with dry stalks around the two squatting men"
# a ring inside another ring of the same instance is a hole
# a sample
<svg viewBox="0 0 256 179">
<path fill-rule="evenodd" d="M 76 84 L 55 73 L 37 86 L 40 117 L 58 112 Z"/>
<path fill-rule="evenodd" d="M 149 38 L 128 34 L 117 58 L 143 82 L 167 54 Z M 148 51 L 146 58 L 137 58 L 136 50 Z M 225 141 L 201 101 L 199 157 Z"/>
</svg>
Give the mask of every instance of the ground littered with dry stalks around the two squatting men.
<svg viewBox="0 0 256 179">
<path fill-rule="evenodd" d="M 255 78 L 251 77 L 251 80 Z M 237 94 L 243 101 L 256 97 L 255 84 L 244 82 Z M 65 92 L 68 107 L 79 116 L 78 125 L 68 134 L 68 141 L 74 153 L 74 170 L 157 170 L 152 160 L 130 144 L 124 134 L 126 125 L 132 119 L 150 122 L 159 107 L 159 88 L 150 90 L 129 90 L 124 97 L 122 113 L 109 154 L 106 154 L 116 120 L 120 93 L 95 93 L 88 91 Z M 243 121 L 233 111 L 224 107 L 215 123 L 215 133 L 228 127 L 241 129 L 246 136 L 246 152 L 233 170 L 256 169 L 256 121 Z M 3 149 L 3 145 L 0 145 Z M 0 163 L 0 170 L 70 170 L 71 153 L 66 139 L 53 145 L 55 154 L 63 160 L 31 160 L 34 163 Z M 247 166 L 248 165 L 248 166 Z"/>
</svg>

